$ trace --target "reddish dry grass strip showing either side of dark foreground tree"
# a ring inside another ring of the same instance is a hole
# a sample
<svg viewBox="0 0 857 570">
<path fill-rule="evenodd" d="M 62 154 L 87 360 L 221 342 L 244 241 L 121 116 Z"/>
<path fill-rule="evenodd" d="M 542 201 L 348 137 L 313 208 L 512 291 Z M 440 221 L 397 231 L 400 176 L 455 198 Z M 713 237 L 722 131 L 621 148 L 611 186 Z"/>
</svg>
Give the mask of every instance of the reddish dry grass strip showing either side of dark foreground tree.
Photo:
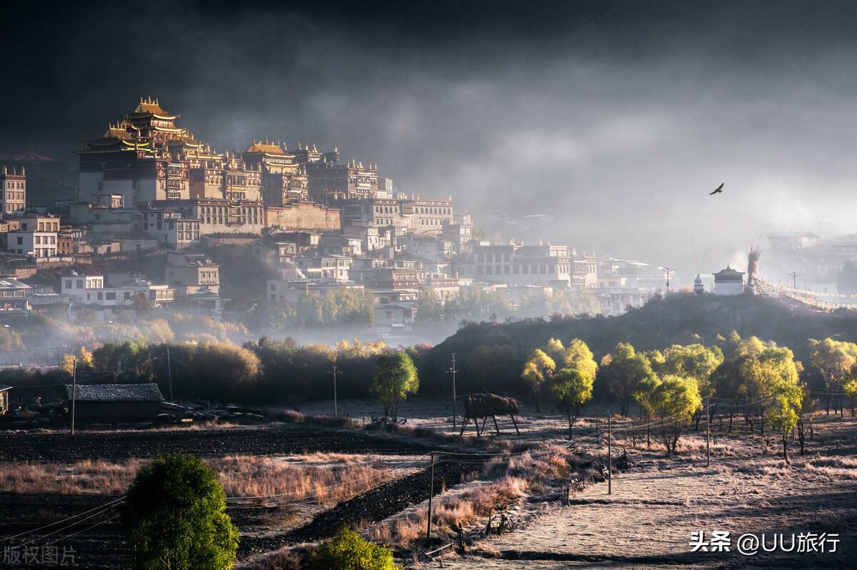
<svg viewBox="0 0 857 570">
<path fill-rule="evenodd" d="M 339 501 L 375 487 L 393 473 L 380 459 L 310 453 L 285 462 L 254 455 L 207 459 L 227 496 L 284 495 L 290 500 Z M 0 463 L 0 489 L 16 493 L 117 495 L 146 459 L 112 463 L 85 459 L 71 465 Z"/>
</svg>

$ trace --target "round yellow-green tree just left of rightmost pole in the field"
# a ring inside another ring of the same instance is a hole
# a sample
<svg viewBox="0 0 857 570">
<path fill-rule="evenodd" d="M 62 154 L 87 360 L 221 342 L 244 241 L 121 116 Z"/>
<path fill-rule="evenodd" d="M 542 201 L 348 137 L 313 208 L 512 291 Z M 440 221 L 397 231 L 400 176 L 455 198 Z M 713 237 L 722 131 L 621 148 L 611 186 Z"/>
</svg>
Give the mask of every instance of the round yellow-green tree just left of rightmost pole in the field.
<svg viewBox="0 0 857 570">
<path fill-rule="evenodd" d="M 659 430 L 669 457 L 675 453 L 681 433 L 691 422 L 693 413 L 702 405 L 699 387 L 692 378 L 665 375 L 661 381 L 651 384 L 651 393 L 646 398 L 661 421 Z"/>
</svg>

